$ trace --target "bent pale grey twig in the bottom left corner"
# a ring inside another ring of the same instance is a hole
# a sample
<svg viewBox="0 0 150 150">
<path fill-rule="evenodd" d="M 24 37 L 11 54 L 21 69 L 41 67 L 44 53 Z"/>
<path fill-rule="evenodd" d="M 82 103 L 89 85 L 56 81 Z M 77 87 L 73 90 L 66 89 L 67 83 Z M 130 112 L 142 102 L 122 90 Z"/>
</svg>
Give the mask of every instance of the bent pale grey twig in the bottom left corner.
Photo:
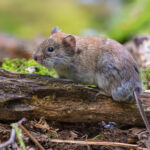
<svg viewBox="0 0 150 150">
<path fill-rule="evenodd" d="M 0 144 L 0 149 L 2 149 L 4 147 L 6 147 L 6 146 L 8 146 L 8 145 L 10 145 L 12 143 L 14 143 L 14 141 L 15 141 L 15 134 L 16 134 L 15 129 L 12 128 L 11 129 L 10 139 L 7 142 L 5 142 L 5 143 Z"/>
</svg>

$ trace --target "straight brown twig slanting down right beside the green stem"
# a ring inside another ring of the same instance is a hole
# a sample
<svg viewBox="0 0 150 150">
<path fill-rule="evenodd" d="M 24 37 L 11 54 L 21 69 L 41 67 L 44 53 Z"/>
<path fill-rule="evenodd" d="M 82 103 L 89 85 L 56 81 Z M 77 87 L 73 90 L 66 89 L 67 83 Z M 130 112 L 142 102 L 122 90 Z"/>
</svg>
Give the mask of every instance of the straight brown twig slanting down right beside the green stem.
<svg viewBox="0 0 150 150">
<path fill-rule="evenodd" d="M 22 124 L 18 123 L 18 126 L 30 137 L 30 139 L 40 148 L 40 150 L 45 150 L 42 145 L 29 133 L 29 131 Z"/>
</svg>

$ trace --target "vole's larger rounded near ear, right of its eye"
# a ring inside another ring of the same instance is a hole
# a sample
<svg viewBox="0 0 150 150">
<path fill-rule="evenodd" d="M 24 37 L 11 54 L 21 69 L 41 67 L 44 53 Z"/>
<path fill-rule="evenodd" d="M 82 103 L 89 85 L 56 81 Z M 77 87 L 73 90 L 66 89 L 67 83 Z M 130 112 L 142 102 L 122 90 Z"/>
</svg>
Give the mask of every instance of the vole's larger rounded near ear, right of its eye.
<svg viewBox="0 0 150 150">
<path fill-rule="evenodd" d="M 73 35 L 68 35 L 63 39 L 63 45 L 64 47 L 75 50 L 76 48 L 76 39 Z"/>
</svg>

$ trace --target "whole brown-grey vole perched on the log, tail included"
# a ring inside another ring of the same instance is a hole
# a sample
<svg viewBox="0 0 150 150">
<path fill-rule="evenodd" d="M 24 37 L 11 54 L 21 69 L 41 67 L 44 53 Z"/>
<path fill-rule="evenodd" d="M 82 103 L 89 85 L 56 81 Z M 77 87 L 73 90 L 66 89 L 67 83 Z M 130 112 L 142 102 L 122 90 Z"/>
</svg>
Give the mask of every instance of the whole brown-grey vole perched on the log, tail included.
<svg viewBox="0 0 150 150">
<path fill-rule="evenodd" d="M 66 34 L 54 27 L 50 37 L 38 47 L 34 59 L 48 68 L 54 68 L 61 78 L 95 84 L 115 101 L 129 102 L 136 99 L 150 132 L 139 98 L 142 86 L 137 64 L 117 41 Z"/>
</svg>

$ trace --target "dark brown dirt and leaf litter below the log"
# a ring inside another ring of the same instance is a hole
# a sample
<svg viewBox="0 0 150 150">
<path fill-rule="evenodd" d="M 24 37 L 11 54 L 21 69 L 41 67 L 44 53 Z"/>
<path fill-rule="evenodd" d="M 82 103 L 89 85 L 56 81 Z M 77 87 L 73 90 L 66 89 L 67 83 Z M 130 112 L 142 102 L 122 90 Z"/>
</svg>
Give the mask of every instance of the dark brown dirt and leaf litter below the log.
<svg viewBox="0 0 150 150">
<path fill-rule="evenodd" d="M 126 150 L 128 148 L 117 148 L 110 146 L 94 146 L 65 143 L 52 143 L 50 139 L 63 140 L 92 140 L 92 141 L 106 141 L 119 142 L 128 144 L 138 144 L 140 147 L 145 147 L 145 140 L 139 140 L 139 135 L 144 130 L 140 128 L 133 128 L 129 126 L 121 126 L 115 123 L 58 123 L 47 122 L 44 118 L 39 121 L 30 120 L 23 123 L 23 126 L 35 137 L 38 142 L 49 150 Z M 0 123 L 0 143 L 9 139 L 11 131 L 10 124 Z M 30 140 L 30 138 L 21 134 L 27 150 L 38 150 L 38 147 Z M 144 134 L 145 135 L 145 134 Z M 8 148 L 20 149 L 18 140 L 16 139 Z"/>
</svg>

